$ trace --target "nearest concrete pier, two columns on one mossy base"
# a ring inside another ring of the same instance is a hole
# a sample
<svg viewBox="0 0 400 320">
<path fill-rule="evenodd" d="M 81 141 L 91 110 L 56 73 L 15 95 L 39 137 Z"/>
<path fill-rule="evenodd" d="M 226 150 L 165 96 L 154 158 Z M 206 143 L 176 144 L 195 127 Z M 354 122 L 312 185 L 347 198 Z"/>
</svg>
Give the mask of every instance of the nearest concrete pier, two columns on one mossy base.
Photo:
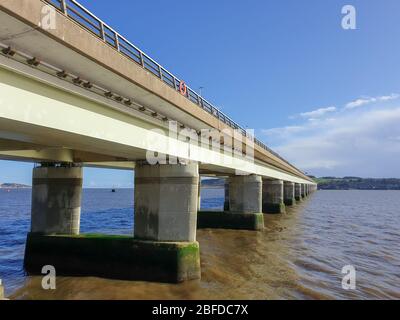
<svg viewBox="0 0 400 320">
<path fill-rule="evenodd" d="M 79 235 L 80 168 L 36 168 L 24 266 L 40 274 L 182 282 L 199 279 L 197 164 L 137 164 L 132 236 Z"/>
</svg>

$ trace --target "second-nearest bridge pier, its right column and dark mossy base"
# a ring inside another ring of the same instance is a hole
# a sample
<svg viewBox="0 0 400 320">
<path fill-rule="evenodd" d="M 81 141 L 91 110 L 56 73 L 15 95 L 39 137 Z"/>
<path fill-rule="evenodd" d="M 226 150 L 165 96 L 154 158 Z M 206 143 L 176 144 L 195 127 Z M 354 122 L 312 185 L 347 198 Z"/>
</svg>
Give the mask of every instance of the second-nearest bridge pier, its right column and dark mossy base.
<svg viewBox="0 0 400 320">
<path fill-rule="evenodd" d="M 199 228 L 220 228 L 239 230 L 264 229 L 262 214 L 262 179 L 260 176 L 230 177 L 225 191 L 229 190 L 226 200 L 229 211 L 199 212 Z M 227 192 L 225 193 L 227 195 Z"/>
</svg>

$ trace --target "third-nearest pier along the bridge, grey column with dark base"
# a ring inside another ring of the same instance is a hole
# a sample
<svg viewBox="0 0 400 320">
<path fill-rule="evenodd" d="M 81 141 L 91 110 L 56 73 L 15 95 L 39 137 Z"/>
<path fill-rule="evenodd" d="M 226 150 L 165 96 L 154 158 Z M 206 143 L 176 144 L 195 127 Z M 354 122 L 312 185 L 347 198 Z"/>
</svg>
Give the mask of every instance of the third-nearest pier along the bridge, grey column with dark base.
<svg viewBox="0 0 400 320">
<path fill-rule="evenodd" d="M 264 213 L 285 213 L 283 181 L 265 179 L 263 181 L 262 209 Z"/>
</svg>

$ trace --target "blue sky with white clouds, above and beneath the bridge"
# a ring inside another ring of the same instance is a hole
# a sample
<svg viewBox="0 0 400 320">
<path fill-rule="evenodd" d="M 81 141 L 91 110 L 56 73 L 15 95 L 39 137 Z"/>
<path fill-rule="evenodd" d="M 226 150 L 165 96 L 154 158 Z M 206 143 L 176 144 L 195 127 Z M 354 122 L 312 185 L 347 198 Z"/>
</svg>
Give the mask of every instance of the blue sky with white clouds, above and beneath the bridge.
<svg viewBox="0 0 400 320">
<path fill-rule="evenodd" d="M 398 0 L 80 2 L 301 169 L 400 177 Z M 0 181 L 29 183 L 31 167 L 0 162 Z"/>
</svg>

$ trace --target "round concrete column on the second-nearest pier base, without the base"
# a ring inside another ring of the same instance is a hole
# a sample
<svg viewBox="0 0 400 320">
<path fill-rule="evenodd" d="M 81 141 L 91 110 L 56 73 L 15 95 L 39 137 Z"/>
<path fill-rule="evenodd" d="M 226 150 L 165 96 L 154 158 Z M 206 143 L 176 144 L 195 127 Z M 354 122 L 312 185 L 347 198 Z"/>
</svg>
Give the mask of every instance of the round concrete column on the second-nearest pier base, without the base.
<svg viewBox="0 0 400 320">
<path fill-rule="evenodd" d="M 229 178 L 229 207 L 231 213 L 261 213 L 261 177 L 249 175 Z"/>
</svg>

